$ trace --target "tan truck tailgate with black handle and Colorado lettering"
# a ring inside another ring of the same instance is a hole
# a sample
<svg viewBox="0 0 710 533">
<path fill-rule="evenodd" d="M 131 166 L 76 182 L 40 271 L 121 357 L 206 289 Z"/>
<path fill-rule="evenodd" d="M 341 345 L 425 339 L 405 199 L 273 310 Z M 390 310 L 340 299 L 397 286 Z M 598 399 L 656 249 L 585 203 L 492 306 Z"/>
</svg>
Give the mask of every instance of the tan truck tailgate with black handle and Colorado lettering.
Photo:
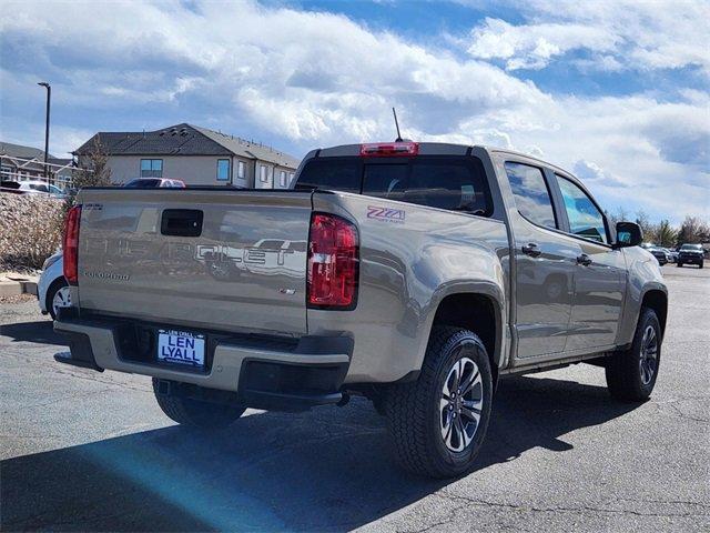
<svg viewBox="0 0 710 533">
<path fill-rule="evenodd" d="M 306 332 L 310 192 L 88 189 L 80 202 L 81 309 Z"/>
</svg>

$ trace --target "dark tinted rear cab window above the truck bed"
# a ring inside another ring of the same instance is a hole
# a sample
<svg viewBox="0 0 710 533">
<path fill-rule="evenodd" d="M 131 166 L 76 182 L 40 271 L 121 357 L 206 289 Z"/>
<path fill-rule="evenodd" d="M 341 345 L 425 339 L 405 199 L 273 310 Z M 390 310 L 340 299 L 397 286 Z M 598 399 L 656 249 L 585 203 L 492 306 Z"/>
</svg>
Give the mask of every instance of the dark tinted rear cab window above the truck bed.
<svg viewBox="0 0 710 533">
<path fill-rule="evenodd" d="M 481 217 L 493 212 L 483 163 L 468 155 L 314 159 L 295 188 L 354 192 Z"/>
</svg>

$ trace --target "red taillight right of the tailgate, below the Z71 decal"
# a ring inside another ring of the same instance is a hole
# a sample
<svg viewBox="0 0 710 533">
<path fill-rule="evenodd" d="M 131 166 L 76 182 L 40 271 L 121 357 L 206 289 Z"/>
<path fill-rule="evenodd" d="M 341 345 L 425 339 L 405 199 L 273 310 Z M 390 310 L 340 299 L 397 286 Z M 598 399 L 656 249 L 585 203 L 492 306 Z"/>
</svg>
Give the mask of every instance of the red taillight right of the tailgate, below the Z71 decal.
<svg viewBox="0 0 710 533">
<path fill-rule="evenodd" d="M 314 213 L 308 235 L 308 306 L 354 309 L 358 263 L 355 225 L 333 214 Z"/>
</svg>

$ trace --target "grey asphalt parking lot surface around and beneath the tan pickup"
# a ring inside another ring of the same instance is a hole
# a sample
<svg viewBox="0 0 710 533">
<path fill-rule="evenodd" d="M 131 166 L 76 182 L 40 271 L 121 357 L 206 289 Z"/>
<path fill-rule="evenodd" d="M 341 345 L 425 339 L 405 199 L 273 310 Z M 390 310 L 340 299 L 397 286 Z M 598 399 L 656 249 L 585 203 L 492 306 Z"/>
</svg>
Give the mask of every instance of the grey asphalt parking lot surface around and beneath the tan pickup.
<svg viewBox="0 0 710 533">
<path fill-rule="evenodd" d="M 710 531 L 710 269 L 663 272 L 649 402 L 584 364 L 507 379 L 453 482 L 396 470 L 365 401 L 184 430 L 146 378 L 55 363 L 37 303 L 0 303 L 0 531 Z"/>
</svg>

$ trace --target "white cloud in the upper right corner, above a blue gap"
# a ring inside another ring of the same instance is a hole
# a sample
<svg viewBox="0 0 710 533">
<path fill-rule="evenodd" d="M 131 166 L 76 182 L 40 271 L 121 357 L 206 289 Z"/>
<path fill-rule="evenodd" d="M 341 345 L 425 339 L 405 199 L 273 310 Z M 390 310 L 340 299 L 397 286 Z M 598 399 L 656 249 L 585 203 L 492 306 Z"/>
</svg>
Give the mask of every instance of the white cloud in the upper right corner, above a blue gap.
<svg viewBox="0 0 710 533">
<path fill-rule="evenodd" d="M 688 0 L 530 0 L 516 7 L 528 21 L 487 18 L 474 28 L 468 52 L 505 60 L 506 68 L 541 69 L 571 50 L 604 71 L 698 67 L 710 76 L 710 3 Z"/>
</svg>

